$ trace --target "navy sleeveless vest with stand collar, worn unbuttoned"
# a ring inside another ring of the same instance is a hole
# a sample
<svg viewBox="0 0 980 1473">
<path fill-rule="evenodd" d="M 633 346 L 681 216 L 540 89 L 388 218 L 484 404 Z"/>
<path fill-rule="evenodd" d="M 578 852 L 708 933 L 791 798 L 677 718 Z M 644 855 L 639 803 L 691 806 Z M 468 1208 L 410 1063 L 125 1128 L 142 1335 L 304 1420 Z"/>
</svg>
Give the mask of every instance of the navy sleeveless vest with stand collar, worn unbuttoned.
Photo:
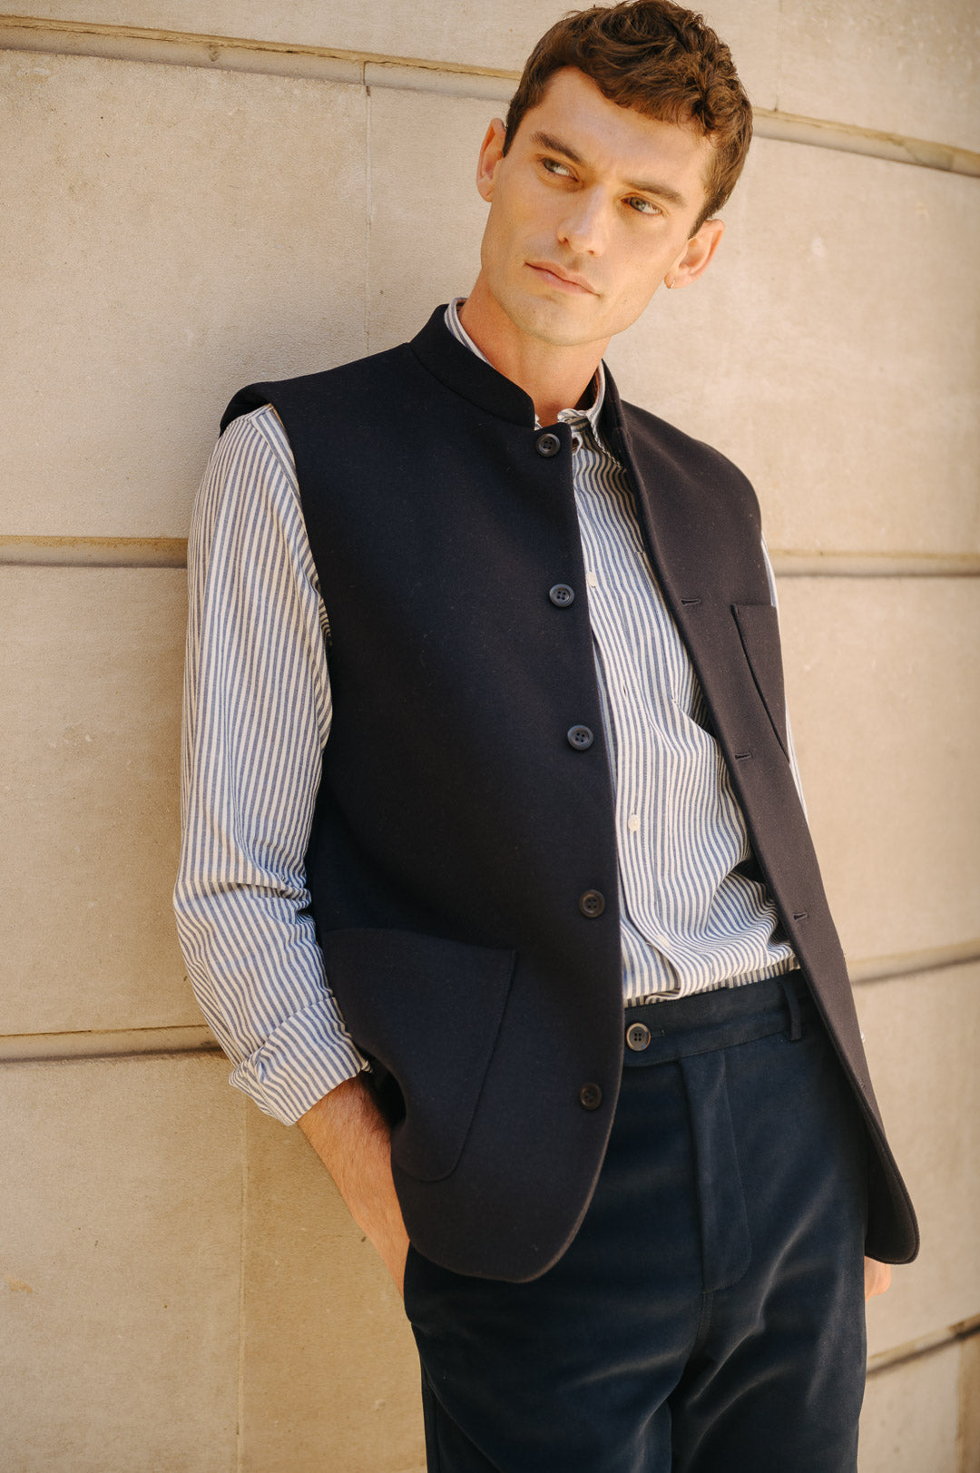
<svg viewBox="0 0 980 1473">
<path fill-rule="evenodd" d="M 327 977 L 392 1118 L 408 1233 L 458 1273 L 532 1279 L 588 1206 L 622 1065 L 617 863 L 567 426 L 458 343 L 252 384 L 273 404 L 330 617 L 333 729 L 307 854 Z M 783 667 L 746 477 L 620 404 L 647 551 L 752 847 L 861 1100 L 868 1252 L 917 1246 L 785 754 Z M 556 449 L 557 442 L 557 449 Z M 573 601 L 554 602 L 564 583 Z M 774 1127 L 775 1128 L 775 1127 Z"/>
</svg>

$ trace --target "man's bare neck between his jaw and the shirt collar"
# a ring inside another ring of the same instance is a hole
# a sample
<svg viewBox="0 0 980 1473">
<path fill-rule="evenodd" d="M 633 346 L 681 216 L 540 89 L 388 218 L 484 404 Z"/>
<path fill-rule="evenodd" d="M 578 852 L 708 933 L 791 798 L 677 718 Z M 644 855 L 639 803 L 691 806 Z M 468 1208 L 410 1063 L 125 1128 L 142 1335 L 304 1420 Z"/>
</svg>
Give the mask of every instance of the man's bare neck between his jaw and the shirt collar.
<svg viewBox="0 0 980 1473">
<path fill-rule="evenodd" d="M 479 277 L 460 306 L 460 323 L 485 358 L 533 399 L 541 424 L 560 409 L 592 402 L 591 384 L 606 343 L 561 348 L 519 331 Z"/>
</svg>

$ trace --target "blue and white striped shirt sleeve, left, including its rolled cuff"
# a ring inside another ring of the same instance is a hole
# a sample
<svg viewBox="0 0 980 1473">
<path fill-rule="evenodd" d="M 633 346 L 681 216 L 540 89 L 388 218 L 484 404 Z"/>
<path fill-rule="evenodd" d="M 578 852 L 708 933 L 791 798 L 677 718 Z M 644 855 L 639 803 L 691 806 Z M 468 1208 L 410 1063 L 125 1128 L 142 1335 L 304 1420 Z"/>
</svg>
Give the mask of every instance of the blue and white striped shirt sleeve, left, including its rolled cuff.
<svg viewBox="0 0 980 1473">
<path fill-rule="evenodd" d="M 365 1066 L 327 987 L 305 853 L 330 734 L 326 614 L 292 449 L 234 420 L 195 505 L 174 909 L 231 1083 L 296 1121 Z"/>
</svg>

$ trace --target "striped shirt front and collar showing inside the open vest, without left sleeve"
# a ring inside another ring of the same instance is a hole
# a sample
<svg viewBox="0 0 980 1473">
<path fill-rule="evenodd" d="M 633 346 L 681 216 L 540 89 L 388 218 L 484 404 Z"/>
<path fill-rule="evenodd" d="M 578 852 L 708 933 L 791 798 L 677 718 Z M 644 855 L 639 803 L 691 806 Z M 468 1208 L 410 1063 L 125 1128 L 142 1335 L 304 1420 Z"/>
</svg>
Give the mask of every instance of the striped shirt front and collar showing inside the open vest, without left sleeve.
<svg viewBox="0 0 980 1473">
<path fill-rule="evenodd" d="M 449 305 L 447 326 L 486 361 L 460 323 L 460 305 L 458 298 Z M 623 994 L 638 1003 L 777 977 L 796 956 L 774 940 L 777 913 L 765 887 L 738 868 L 752 857 L 744 819 L 704 729 L 704 698 L 653 576 L 626 470 L 600 437 L 604 392 L 600 364 L 592 405 L 559 418 L 573 432 L 572 482 L 616 797 Z"/>
</svg>

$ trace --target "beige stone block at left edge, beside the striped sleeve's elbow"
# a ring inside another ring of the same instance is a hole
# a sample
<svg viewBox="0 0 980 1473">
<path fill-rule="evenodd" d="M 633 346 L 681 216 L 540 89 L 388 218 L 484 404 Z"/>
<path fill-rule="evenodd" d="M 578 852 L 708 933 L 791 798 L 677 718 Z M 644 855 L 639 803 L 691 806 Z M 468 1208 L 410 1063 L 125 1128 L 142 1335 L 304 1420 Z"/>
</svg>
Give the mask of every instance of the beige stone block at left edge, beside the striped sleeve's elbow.
<svg viewBox="0 0 980 1473">
<path fill-rule="evenodd" d="M 0 1031 L 199 1024 L 177 949 L 186 579 L 0 569 Z"/>
</svg>

